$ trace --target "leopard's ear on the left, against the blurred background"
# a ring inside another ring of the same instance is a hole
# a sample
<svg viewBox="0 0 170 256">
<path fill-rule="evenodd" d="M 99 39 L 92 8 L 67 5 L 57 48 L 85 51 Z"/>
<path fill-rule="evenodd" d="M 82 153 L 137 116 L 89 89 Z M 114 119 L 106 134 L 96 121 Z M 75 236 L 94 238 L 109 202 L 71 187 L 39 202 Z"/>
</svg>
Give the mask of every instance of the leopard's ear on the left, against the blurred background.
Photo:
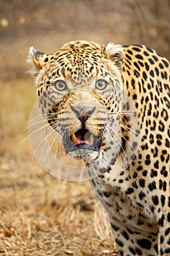
<svg viewBox="0 0 170 256">
<path fill-rule="evenodd" d="M 39 50 L 36 50 L 33 46 L 29 49 L 28 53 L 28 64 L 30 64 L 31 69 L 29 73 L 33 76 L 39 74 L 39 71 L 44 66 L 45 62 L 47 62 L 47 54 L 42 53 Z"/>
</svg>

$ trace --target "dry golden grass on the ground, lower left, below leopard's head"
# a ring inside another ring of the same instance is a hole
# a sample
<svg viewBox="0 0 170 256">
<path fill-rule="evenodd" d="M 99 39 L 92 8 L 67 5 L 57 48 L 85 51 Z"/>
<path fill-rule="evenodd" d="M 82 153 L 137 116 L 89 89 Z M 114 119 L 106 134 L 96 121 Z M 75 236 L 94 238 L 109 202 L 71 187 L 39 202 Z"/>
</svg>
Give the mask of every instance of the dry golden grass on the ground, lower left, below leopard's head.
<svg viewBox="0 0 170 256">
<path fill-rule="evenodd" d="M 95 232 L 88 181 L 58 181 L 34 161 L 1 160 L 0 255 L 115 255 L 110 233 L 102 241 Z"/>
</svg>

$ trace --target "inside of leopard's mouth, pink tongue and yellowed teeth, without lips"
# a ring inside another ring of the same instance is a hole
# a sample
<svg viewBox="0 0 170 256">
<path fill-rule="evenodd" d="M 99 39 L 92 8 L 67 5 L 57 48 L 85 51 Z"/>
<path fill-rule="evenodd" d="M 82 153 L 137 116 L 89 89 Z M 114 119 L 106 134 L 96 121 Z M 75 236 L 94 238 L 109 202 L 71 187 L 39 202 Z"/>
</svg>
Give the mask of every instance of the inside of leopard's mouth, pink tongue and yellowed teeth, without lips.
<svg viewBox="0 0 170 256">
<path fill-rule="evenodd" d="M 74 145 L 80 145 L 80 144 L 92 145 L 93 134 L 91 132 L 88 132 L 88 130 L 80 129 L 72 135 L 72 141 Z"/>
</svg>

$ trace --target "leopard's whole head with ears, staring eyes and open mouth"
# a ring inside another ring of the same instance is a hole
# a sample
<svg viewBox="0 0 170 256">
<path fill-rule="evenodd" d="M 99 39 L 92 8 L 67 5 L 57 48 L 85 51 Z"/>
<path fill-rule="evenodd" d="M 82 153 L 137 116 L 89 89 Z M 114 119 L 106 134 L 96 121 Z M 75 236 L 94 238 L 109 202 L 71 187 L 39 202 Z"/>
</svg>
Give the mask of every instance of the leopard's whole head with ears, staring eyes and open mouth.
<svg viewBox="0 0 170 256">
<path fill-rule="evenodd" d="M 88 163 L 104 154 L 107 162 L 116 157 L 123 49 L 77 41 L 53 55 L 31 48 L 31 58 L 38 71 L 39 106 L 66 153 Z"/>
</svg>

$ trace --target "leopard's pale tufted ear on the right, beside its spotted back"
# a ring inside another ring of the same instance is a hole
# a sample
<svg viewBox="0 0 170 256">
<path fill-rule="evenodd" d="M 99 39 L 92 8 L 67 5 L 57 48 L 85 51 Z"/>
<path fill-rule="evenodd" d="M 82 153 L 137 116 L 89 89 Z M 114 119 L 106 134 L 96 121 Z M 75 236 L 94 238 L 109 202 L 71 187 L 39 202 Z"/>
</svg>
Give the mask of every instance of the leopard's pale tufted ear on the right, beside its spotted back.
<svg viewBox="0 0 170 256">
<path fill-rule="evenodd" d="M 110 59 L 115 66 L 119 69 L 122 69 L 123 66 L 123 56 L 124 50 L 119 45 L 114 45 L 112 42 L 104 48 L 104 53 L 107 56 L 107 59 Z"/>
</svg>

